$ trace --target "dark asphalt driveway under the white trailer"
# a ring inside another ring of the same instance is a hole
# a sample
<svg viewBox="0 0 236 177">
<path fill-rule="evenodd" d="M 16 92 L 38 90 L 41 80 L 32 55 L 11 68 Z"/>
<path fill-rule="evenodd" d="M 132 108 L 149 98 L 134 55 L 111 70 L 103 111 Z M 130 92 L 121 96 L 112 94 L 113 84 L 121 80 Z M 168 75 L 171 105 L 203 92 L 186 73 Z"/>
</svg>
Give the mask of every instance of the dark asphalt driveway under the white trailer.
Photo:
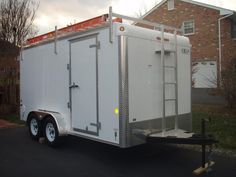
<svg viewBox="0 0 236 177">
<path fill-rule="evenodd" d="M 213 172 L 236 177 L 236 159 L 215 156 Z M 26 127 L 0 129 L 1 177 L 190 177 L 200 153 L 173 146 L 119 149 L 69 137 L 53 149 L 30 140 Z"/>
</svg>

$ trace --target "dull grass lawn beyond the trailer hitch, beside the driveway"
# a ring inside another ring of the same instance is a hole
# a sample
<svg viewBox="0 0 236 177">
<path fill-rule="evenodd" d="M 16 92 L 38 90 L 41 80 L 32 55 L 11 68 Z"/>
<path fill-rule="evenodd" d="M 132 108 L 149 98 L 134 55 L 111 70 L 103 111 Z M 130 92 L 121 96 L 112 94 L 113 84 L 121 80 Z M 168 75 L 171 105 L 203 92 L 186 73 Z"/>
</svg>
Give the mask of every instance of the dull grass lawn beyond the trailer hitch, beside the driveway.
<svg viewBox="0 0 236 177">
<path fill-rule="evenodd" d="M 236 109 L 217 105 L 193 105 L 193 131 L 201 131 L 201 119 L 211 118 L 207 123 L 208 133 L 219 140 L 219 147 L 236 150 Z"/>
</svg>

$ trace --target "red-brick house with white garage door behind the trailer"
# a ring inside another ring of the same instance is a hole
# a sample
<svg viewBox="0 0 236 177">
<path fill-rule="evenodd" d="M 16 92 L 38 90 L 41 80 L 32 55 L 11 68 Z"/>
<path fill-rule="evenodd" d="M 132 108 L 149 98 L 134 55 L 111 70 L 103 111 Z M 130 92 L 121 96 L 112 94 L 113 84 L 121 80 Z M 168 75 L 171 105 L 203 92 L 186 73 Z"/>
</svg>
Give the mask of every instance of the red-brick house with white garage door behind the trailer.
<svg viewBox="0 0 236 177">
<path fill-rule="evenodd" d="M 192 45 L 195 87 L 215 87 L 219 71 L 236 58 L 236 12 L 191 0 L 163 0 L 141 18 L 182 28 Z M 218 72 L 217 72 L 218 71 Z"/>
</svg>

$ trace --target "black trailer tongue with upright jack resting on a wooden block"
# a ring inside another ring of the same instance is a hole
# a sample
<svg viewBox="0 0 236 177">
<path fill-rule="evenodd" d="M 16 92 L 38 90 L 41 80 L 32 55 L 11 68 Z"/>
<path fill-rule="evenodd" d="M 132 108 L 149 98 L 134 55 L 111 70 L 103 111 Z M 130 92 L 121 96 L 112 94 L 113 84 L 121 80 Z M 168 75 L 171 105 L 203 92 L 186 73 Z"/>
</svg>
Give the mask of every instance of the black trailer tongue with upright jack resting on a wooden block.
<svg viewBox="0 0 236 177">
<path fill-rule="evenodd" d="M 147 142 L 149 143 L 164 143 L 164 144 L 188 144 L 201 146 L 201 167 L 193 171 L 193 174 L 200 175 L 211 170 L 215 164 L 211 158 L 206 162 L 206 148 L 209 149 L 209 156 L 212 155 L 212 147 L 218 141 L 210 134 L 206 134 L 206 122 L 210 119 L 201 120 L 201 133 L 186 132 L 181 129 L 166 131 L 165 133 L 150 133 L 147 135 Z"/>
</svg>

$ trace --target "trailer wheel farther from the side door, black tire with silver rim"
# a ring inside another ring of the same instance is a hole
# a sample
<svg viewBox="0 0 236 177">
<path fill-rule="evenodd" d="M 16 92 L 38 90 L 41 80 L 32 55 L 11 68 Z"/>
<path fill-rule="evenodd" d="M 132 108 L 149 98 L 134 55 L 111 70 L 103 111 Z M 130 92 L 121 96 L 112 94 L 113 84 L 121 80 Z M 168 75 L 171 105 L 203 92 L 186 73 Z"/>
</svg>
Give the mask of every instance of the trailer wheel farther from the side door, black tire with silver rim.
<svg viewBox="0 0 236 177">
<path fill-rule="evenodd" d="M 31 113 L 27 122 L 31 138 L 35 141 L 38 141 L 42 136 L 42 126 L 38 116 L 34 113 Z"/>
</svg>

